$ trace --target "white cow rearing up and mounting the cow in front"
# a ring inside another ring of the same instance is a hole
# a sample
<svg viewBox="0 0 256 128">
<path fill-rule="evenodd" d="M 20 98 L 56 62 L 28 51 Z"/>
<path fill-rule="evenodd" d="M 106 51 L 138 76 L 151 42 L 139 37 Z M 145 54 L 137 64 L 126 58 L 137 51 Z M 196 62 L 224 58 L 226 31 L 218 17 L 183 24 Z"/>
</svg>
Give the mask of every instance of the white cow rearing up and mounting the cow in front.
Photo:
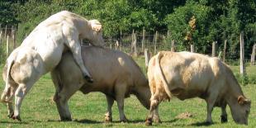
<svg viewBox="0 0 256 128">
<path fill-rule="evenodd" d="M 83 65 L 80 39 L 87 39 L 92 45 L 102 46 L 104 43 L 102 25 L 97 20 L 88 21 L 72 12 L 63 11 L 42 21 L 23 40 L 21 46 L 12 52 L 7 59 L 7 73 L 4 77 L 6 87 L 1 97 L 2 102 L 8 102 L 7 106 L 11 112 L 9 117 L 21 121 L 22 99 L 40 76 L 50 72 L 59 64 L 66 50 L 72 52 L 76 64 L 82 70 L 83 78 L 92 82 L 91 75 Z M 10 74 L 14 70 L 15 73 Z M 9 104 L 13 95 L 15 95 L 14 113 Z"/>
</svg>

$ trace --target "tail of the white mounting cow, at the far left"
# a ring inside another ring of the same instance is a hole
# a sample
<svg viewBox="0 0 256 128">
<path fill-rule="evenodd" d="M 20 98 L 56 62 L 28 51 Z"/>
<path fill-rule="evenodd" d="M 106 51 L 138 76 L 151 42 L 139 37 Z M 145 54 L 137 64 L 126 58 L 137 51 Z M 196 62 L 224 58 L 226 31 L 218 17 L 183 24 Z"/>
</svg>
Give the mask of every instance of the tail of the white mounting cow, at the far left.
<svg viewBox="0 0 256 128">
<path fill-rule="evenodd" d="M 1 96 L 1 102 L 10 102 L 9 100 L 6 99 L 7 93 L 10 92 L 10 77 L 11 77 L 11 69 L 12 69 L 12 65 L 14 64 L 14 58 L 7 60 L 7 73 L 6 73 L 6 85 L 5 88 L 2 92 L 2 96 Z"/>
</svg>

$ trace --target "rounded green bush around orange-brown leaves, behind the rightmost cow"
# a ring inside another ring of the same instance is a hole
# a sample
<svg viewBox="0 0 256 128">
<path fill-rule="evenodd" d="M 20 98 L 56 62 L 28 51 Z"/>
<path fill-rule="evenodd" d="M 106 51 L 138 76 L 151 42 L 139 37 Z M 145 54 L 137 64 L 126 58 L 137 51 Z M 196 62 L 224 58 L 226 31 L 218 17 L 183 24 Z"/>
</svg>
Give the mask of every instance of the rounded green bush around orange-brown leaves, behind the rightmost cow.
<svg viewBox="0 0 256 128">
<path fill-rule="evenodd" d="M 192 40 L 197 45 L 196 49 L 203 49 L 204 46 L 210 45 L 207 40 L 213 40 L 207 28 L 211 25 L 212 8 L 199 4 L 198 2 L 189 1 L 183 7 L 178 7 L 173 13 L 169 14 L 165 21 L 168 24 L 168 30 L 171 36 L 178 41 L 178 48 L 181 50 L 189 50 L 187 42 L 184 38 L 189 31 L 188 21 L 192 16 L 197 19 L 196 31 L 193 33 Z M 201 50 L 200 50 L 201 51 Z"/>
</svg>

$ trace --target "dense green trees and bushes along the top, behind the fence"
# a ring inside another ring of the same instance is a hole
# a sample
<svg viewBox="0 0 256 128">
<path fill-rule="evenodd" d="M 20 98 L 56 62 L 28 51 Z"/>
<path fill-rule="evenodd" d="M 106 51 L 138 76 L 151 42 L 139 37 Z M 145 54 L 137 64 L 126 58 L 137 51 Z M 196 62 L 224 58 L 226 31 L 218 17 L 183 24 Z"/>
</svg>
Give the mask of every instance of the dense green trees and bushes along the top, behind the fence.
<svg viewBox="0 0 256 128">
<path fill-rule="evenodd" d="M 178 42 L 178 50 L 189 48 L 184 37 L 190 29 L 188 21 L 195 16 L 192 41 L 196 51 L 210 53 L 215 40 L 222 50 L 224 40 L 228 40 L 226 59 L 239 58 L 241 31 L 246 59 L 256 42 L 255 0 L 2 0 L 0 8 L 2 26 L 19 27 L 19 43 L 40 21 L 61 10 L 98 19 L 103 24 L 105 39 L 118 38 L 120 31 L 131 33 L 143 28 L 149 34 L 170 31 L 170 40 Z"/>
</svg>

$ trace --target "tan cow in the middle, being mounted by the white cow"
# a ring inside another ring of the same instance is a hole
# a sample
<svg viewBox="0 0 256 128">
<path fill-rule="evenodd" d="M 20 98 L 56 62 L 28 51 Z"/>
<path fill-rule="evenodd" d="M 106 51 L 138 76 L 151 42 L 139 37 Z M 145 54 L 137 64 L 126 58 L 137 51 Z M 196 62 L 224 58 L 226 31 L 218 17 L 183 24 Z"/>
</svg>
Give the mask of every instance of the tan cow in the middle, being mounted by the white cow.
<svg viewBox="0 0 256 128">
<path fill-rule="evenodd" d="M 83 74 L 74 63 L 70 53 L 66 53 L 59 65 L 51 72 L 55 83 L 55 97 L 59 116 L 62 121 L 71 120 L 68 100 L 80 90 L 102 92 L 107 97 L 105 121 L 111 121 L 111 107 L 117 102 L 120 120 L 127 121 L 124 113 L 124 98 L 135 94 L 140 103 L 149 109 L 151 96 L 148 80 L 130 56 L 121 51 L 97 47 L 82 47 L 83 62 L 92 74 L 93 83 L 84 81 Z"/>
</svg>

